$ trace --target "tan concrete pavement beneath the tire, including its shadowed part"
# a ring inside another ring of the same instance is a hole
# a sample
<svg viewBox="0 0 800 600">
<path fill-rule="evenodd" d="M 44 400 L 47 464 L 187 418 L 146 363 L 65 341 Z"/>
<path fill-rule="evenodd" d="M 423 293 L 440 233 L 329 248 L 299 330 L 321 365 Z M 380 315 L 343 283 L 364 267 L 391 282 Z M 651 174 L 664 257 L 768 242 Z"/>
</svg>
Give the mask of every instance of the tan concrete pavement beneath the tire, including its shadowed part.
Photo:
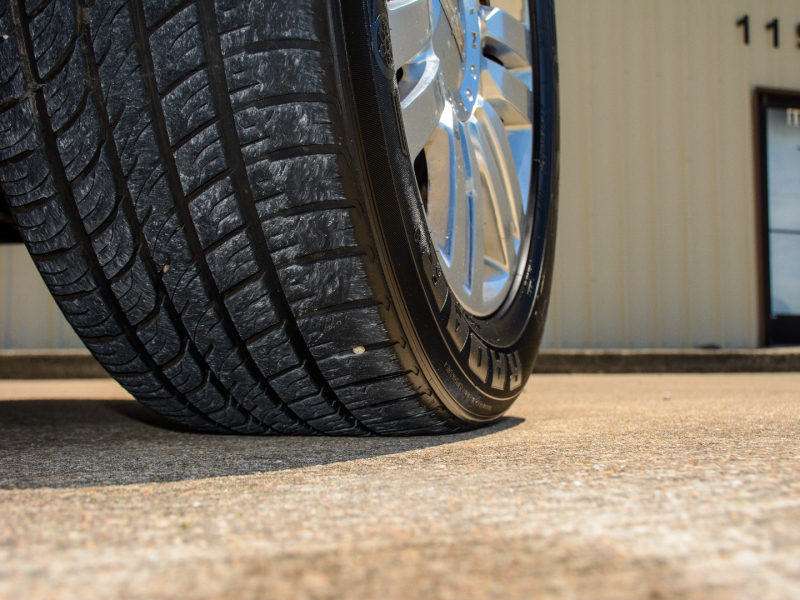
<svg viewBox="0 0 800 600">
<path fill-rule="evenodd" d="M 798 598 L 800 374 L 537 375 L 405 439 L 0 382 L 0 598 Z"/>
</svg>

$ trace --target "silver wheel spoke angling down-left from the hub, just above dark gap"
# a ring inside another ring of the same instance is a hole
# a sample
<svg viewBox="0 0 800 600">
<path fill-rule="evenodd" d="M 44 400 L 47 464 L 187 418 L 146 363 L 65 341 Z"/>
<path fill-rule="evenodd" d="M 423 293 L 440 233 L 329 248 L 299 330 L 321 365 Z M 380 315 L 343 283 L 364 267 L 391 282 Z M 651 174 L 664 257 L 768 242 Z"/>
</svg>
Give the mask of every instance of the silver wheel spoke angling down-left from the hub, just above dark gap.
<svg viewBox="0 0 800 600">
<path fill-rule="evenodd" d="M 414 160 L 439 124 L 445 107 L 438 59 L 434 57 L 425 61 L 422 77 L 411 92 L 401 99 L 400 107 L 403 110 L 409 156 Z"/>
</svg>

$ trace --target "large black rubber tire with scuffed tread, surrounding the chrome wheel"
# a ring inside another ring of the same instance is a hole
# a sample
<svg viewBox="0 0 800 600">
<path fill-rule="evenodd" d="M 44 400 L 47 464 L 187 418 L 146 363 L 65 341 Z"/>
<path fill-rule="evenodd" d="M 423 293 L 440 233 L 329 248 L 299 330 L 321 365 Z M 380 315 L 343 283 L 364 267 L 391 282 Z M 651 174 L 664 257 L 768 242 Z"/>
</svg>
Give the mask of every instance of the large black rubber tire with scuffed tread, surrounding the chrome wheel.
<svg viewBox="0 0 800 600">
<path fill-rule="evenodd" d="M 170 419 L 240 434 L 472 428 L 518 396 L 546 309 L 555 63 L 539 5 L 544 216 L 515 292 L 531 302 L 515 340 L 464 321 L 484 360 L 516 361 L 502 390 L 447 346 L 459 309 L 434 306 L 436 267 L 413 255 L 419 192 L 365 20 L 380 4 L 0 0 L 2 193 L 86 346 Z M 444 329 L 420 329 L 431 319 Z"/>
</svg>

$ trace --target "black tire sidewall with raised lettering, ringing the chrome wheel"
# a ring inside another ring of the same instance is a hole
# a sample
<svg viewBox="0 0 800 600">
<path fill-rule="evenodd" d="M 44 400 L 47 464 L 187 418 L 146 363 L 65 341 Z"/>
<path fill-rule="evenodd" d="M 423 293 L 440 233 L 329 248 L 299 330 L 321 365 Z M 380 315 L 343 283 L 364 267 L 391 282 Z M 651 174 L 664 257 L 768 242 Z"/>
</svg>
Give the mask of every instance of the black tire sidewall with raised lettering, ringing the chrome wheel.
<svg viewBox="0 0 800 600">
<path fill-rule="evenodd" d="M 399 99 L 380 29 L 385 0 L 342 3 L 344 35 L 370 193 L 377 253 L 408 342 L 442 402 L 467 421 L 502 415 L 533 369 L 550 293 L 558 182 L 558 66 L 551 0 L 531 0 L 534 131 L 533 224 L 523 268 L 504 305 L 479 319 L 441 276 L 402 128 Z M 360 27 L 359 27 L 360 25 Z M 389 59 L 390 60 L 390 59 Z M 405 340 L 403 340 L 405 341 Z"/>
</svg>

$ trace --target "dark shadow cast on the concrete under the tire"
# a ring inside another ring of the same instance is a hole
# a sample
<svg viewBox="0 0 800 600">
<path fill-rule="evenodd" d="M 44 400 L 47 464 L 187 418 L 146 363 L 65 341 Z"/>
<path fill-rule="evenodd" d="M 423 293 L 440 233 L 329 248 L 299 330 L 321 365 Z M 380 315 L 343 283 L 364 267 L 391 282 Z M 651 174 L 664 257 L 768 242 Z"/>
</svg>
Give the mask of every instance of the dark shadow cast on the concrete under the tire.
<svg viewBox="0 0 800 600">
<path fill-rule="evenodd" d="M 184 481 L 302 469 L 456 444 L 524 419 L 451 435 L 398 438 L 198 434 L 138 402 L 0 402 L 0 489 Z"/>
</svg>

